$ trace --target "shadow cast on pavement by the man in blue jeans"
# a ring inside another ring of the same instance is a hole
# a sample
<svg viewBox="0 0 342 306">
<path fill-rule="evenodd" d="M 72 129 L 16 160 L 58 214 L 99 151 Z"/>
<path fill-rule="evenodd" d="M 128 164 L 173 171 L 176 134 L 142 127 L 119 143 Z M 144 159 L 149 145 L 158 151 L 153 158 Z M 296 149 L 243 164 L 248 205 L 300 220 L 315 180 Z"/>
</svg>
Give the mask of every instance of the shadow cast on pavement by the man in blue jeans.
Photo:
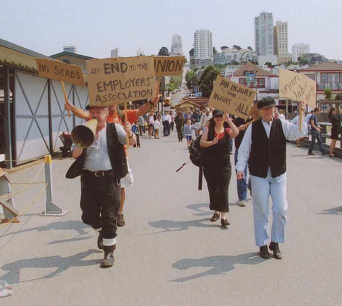
<svg viewBox="0 0 342 306">
<path fill-rule="evenodd" d="M 181 259 L 172 265 L 178 270 L 187 270 L 193 267 L 212 268 L 202 273 L 197 273 L 191 276 L 178 278 L 171 282 L 186 282 L 208 275 L 220 275 L 234 269 L 235 264 L 256 265 L 264 262 L 257 253 L 247 253 L 238 256 L 210 256 L 199 259 Z"/>
</svg>

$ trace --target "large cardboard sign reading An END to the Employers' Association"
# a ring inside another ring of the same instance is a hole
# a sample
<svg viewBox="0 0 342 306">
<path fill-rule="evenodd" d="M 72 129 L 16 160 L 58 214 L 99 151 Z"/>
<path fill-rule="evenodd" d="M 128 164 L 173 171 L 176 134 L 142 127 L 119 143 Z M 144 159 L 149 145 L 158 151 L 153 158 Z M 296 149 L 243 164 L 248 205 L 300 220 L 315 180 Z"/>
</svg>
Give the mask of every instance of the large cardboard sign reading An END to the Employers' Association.
<svg viewBox="0 0 342 306">
<path fill-rule="evenodd" d="M 89 104 L 114 105 L 156 96 L 152 56 L 87 61 Z"/>
</svg>

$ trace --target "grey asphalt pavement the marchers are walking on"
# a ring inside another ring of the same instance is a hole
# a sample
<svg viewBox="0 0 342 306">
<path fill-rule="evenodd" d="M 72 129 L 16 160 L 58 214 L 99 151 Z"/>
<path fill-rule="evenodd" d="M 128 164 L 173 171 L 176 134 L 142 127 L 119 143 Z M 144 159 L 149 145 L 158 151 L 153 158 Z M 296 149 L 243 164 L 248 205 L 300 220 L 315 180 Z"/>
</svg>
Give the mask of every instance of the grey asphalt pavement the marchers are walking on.
<svg viewBox="0 0 342 306">
<path fill-rule="evenodd" d="M 209 196 L 197 190 L 198 168 L 176 132 L 143 136 L 129 148 L 134 186 L 126 189 L 126 225 L 118 228 L 115 262 L 101 269 L 103 252 L 81 221 L 80 180 L 65 173 L 73 160 L 54 158 L 53 202 L 65 216 L 39 216 L 43 184 L 14 196 L 20 223 L 0 228 L 0 280 L 13 305 L 115 306 L 340 306 L 342 207 L 340 159 L 308 156 L 287 145 L 287 242 L 282 260 L 262 259 L 254 241 L 253 207 L 238 206 L 236 179 L 229 187 L 231 225 L 210 222 Z M 231 158 L 233 162 L 233 156 Z M 29 182 L 42 165 L 20 168 L 11 183 Z M 42 171 L 36 182 L 44 181 Z M 25 185 L 12 184 L 13 193 Z M 271 217 L 270 217 L 271 219 Z M 1 223 L 0 223 L 1 226 Z"/>
</svg>

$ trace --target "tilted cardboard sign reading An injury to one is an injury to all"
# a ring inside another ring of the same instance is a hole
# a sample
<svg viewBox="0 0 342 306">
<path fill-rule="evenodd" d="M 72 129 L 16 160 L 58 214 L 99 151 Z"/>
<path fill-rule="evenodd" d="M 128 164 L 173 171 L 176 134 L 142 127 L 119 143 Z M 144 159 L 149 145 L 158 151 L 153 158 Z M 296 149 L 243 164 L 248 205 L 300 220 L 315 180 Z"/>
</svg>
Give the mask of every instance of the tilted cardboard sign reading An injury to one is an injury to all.
<svg viewBox="0 0 342 306">
<path fill-rule="evenodd" d="M 222 111 L 247 119 L 255 96 L 255 90 L 217 76 L 209 104 Z"/>
</svg>

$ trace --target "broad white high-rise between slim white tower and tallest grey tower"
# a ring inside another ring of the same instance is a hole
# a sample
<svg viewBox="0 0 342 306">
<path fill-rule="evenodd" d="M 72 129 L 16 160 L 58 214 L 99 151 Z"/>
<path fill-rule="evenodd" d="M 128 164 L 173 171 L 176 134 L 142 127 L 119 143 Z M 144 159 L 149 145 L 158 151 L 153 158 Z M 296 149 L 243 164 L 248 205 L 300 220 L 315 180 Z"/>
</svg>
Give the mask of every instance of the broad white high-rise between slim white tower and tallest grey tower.
<svg viewBox="0 0 342 306">
<path fill-rule="evenodd" d="M 213 60 L 213 36 L 212 32 L 205 29 L 197 30 L 194 33 L 194 58 Z"/>
</svg>

